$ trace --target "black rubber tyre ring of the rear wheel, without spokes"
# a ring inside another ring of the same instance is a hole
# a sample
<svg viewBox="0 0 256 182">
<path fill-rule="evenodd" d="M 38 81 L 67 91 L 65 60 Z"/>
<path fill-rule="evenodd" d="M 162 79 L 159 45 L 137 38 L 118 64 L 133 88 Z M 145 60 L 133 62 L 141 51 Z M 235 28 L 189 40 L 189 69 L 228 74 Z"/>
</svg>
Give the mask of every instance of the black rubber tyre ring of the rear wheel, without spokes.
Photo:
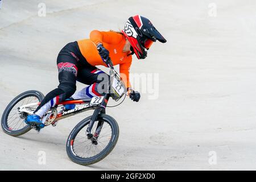
<svg viewBox="0 0 256 182">
<path fill-rule="evenodd" d="M 7 123 L 7 118 L 8 115 L 11 111 L 11 109 L 13 109 L 13 107 L 20 101 L 23 100 L 26 97 L 31 97 L 34 96 L 36 98 L 39 99 L 40 102 L 42 102 L 44 95 L 43 93 L 37 91 L 37 90 L 28 90 L 26 92 L 23 92 L 21 94 L 19 94 L 17 97 L 15 97 L 10 103 L 9 105 L 7 105 L 5 111 L 3 111 L 3 115 L 2 115 L 2 119 L 1 119 L 1 126 L 2 126 L 2 130 L 3 132 L 5 132 L 8 135 L 11 135 L 13 137 L 19 136 L 19 135 L 23 135 L 25 133 L 27 133 L 28 131 L 30 131 L 32 128 L 31 126 L 27 125 L 25 127 L 23 127 L 20 130 L 9 130 L 9 126 Z"/>
</svg>

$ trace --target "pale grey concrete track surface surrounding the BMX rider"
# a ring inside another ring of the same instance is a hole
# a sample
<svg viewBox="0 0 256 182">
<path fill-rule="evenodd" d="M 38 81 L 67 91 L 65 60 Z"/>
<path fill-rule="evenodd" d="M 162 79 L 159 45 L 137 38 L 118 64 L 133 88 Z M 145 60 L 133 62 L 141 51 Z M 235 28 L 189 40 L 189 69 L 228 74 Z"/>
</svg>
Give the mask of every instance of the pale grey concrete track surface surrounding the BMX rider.
<svg viewBox="0 0 256 182">
<path fill-rule="evenodd" d="M 39 3 L 45 3 L 46 16 L 38 16 Z M 152 100 L 142 93 L 139 103 L 127 99 L 107 110 L 118 121 L 120 135 L 104 160 L 85 167 L 66 154 L 70 131 L 88 112 L 39 134 L 31 130 L 11 137 L 1 130 L 0 169 L 256 169 L 256 2 L 212 3 L 3 0 L 1 115 L 19 93 L 47 94 L 56 88 L 57 53 L 94 29 L 119 30 L 129 16 L 141 14 L 167 43 L 155 43 L 145 60 L 134 56 L 130 72 L 158 73 L 159 96 Z M 83 86 L 77 83 L 77 89 Z M 46 152 L 45 165 L 38 163 L 39 151 Z"/>
</svg>

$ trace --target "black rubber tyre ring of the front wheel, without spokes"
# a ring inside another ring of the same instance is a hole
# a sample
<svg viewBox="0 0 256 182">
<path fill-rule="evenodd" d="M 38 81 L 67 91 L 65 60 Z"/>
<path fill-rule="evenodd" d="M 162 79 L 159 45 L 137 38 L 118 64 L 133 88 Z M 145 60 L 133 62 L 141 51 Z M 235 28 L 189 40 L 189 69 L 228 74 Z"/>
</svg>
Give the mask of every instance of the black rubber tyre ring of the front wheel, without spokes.
<svg viewBox="0 0 256 182">
<path fill-rule="evenodd" d="M 73 146 L 71 141 L 75 139 L 76 135 L 79 133 L 80 130 L 82 130 L 86 125 L 88 125 L 91 117 L 92 116 L 89 116 L 83 119 L 80 123 L 78 123 L 74 127 L 74 129 L 69 134 L 69 137 L 67 139 L 67 144 L 66 144 L 66 151 L 69 159 L 83 166 L 88 166 L 88 165 L 97 163 L 100 160 L 104 159 L 107 155 L 109 155 L 110 152 L 114 149 L 115 144 L 117 144 L 117 140 L 119 137 L 119 127 L 118 127 L 117 121 L 115 121 L 115 119 L 110 115 L 99 114 L 96 121 L 101 120 L 101 121 L 107 122 L 112 127 L 112 138 L 110 139 L 108 146 L 106 146 L 104 150 L 102 150 L 99 154 L 97 154 L 96 156 L 93 156 L 92 158 L 85 159 L 75 155 L 75 152 L 73 152 Z"/>
</svg>

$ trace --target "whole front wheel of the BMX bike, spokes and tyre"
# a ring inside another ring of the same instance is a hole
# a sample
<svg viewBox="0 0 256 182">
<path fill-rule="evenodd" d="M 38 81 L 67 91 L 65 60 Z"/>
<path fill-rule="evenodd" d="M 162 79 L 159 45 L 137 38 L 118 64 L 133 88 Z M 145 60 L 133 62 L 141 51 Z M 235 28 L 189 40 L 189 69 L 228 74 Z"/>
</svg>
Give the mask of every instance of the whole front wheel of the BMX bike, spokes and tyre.
<svg viewBox="0 0 256 182">
<path fill-rule="evenodd" d="M 119 127 L 113 117 L 106 114 L 98 115 L 91 133 L 94 134 L 98 122 L 103 122 L 101 133 L 97 138 L 97 144 L 86 136 L 86 129 L 91 117 L 83 119 L 69 134 L 66 150 L 69 158 L 84 166 L 94 164 L 104 159 L 115 147 L 119 137 Z"/>
</svg>

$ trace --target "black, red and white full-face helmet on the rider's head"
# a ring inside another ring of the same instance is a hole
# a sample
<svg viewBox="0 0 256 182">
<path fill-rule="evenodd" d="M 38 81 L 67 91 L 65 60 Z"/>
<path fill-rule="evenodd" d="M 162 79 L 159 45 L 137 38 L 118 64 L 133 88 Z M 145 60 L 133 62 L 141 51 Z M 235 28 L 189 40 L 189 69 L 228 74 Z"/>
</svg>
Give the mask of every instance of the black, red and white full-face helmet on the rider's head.
<svg viewBox="0 0 256 182">
<path fill-rule="evenodd" d="M 125 23 L 122 33 L 131 43 L 131 51 L 138 59 L 147 57 L 148 48 L 156 40 L 166 43 L 166 39 L 156 30 L 150 20 L 141 15 L 131 16 Z"/>
</svg>

